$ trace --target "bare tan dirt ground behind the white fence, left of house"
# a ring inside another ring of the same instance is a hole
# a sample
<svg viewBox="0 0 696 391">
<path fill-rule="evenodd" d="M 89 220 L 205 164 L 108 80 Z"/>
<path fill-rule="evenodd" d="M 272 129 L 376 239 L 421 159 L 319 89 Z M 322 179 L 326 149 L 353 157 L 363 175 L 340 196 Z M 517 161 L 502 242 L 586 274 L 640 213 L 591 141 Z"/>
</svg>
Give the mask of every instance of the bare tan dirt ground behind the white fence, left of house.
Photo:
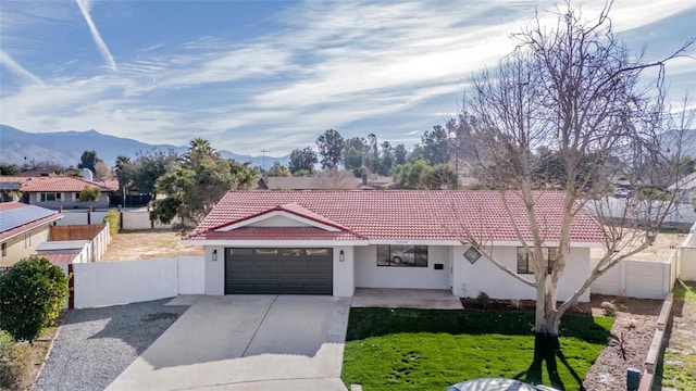
<svg viewBox="0 0 696 391">
<path fill-rule="evenodd" d="M 172 230 L 121 231 L 112 239 L 103 261 L 133 261 L 156 257 L 202 255 L 200 245 L 184 245 L 182 236 Z"/>
</svg>

